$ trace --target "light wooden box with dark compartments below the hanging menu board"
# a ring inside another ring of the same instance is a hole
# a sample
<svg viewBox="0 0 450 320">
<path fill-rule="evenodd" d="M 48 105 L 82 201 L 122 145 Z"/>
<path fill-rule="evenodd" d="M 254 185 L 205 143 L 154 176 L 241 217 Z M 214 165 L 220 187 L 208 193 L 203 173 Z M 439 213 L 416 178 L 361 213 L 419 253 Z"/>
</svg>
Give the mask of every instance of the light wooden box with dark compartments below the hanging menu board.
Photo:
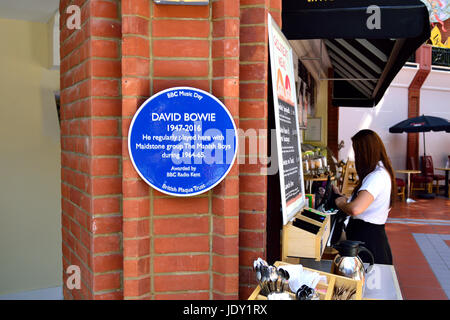
<svg viewBox="0 0 450 320">
<path fill-rule="evenodd" d="M 329 236 L 330 216 L 312 208 L 304 208 L 283 226 L 282 261 L 288 261 L 289 257 L 320 261 Z"/>
</svg>

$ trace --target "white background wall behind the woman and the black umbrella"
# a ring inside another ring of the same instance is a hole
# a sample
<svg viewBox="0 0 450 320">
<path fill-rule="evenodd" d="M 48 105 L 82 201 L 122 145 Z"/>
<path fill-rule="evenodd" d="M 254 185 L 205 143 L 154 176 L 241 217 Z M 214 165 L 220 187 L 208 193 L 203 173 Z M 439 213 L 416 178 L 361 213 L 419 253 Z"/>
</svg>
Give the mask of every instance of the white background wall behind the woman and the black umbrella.
<svg viewBox="0 0 450 320">
<path fill-rule="evenodd" d="M 375 108 L 339 109 L 339 141 L 345 143 L 339 151 L 339 159 L 353 160 L 351 137 L 361 129 L 371 129 L 383 140 L 394 170 L 406 168 L 407 134 L 392 134 L 389 128 L 408 118 L 408 87 L 416 72 L 415 68 L 403 67 Z M 450 119 L 450 72 L 433 70 L 428 75 L 420 93 L 420 113 Z M 450 155 L 450 134 L 427 132 L 425 141 L 427 155 L 433 157 L 434 166 L 445 166 Z M 419 138 L 420 155 L 423 155 L 423 134 Z M 444 174 L 442 171 L 435 173 Z M 397 177 L 405 178 L 402 174 Z"/>
</svg>

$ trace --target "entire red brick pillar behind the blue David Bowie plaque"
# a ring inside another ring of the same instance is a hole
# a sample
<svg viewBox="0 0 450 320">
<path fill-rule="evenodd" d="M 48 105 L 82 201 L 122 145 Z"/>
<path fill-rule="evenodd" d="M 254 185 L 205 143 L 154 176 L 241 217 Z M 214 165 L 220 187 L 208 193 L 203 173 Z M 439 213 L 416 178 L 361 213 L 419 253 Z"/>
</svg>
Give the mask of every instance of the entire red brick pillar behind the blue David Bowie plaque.
<svg viewBox="0 0 450 320">
<path fill-rule="evenodd" d="M 80 30 L 65 26 L 73 4 Z M 247 149 L 226 179 L 176 198 L 142 181 L 127 136 L 147 98 L 191 86 L 267 145 L 268 12 L 281 23 L 281 0 L 60 2 L 63 256 L 83 283 L 65 298 L 246 299 L 254 289 L 253 260 L 266 256 L 266 148 L 250 153 L 241 139 Z"/>
</svg>

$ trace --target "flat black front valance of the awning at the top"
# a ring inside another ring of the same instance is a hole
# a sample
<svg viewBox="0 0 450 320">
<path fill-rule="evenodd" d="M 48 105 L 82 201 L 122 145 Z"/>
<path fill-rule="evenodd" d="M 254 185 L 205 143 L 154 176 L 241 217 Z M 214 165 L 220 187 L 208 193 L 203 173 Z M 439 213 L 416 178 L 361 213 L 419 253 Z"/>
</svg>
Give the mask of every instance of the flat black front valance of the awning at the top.
<svg viewBox="0 0 450 320">
<path fill-rule="evenodd" d="M 367 9 L 380 8 L 380 29 L 369 29 Z M 415 38 L 429 27 L 420 0 L 283 0 L 283 33 L 289 40 L 331 38 Z"/>
</svg>

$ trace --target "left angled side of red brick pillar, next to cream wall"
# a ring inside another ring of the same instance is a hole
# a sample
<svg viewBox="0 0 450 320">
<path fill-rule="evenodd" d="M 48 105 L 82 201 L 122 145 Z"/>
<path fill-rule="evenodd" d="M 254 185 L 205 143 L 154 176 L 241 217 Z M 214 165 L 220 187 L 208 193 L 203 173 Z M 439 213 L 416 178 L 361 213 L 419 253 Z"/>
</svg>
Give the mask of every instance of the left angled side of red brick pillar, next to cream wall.
<svg viewBox="0 0 450 320">
<path fill-rule="evenodd" d="M 120 1 L 60 2 L 64 297 L 122 298 Z M 80 29 L 67 20 L 76 5 Z M 66 286 L 68 266 L 81 289 Z"/>
</svg>

